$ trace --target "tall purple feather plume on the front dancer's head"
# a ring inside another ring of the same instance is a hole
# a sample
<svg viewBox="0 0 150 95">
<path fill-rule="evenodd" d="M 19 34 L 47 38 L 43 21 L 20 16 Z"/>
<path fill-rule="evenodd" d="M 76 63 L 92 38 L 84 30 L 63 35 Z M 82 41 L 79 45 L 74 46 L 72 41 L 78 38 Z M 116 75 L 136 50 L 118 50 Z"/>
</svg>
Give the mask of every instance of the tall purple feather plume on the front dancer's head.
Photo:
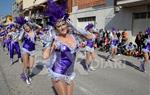
<svg viewBox="0 0 150 95">
<path fill-rule="evenodd" d="M 49 24 L 55 26 L 57 21 L 66 20 L 69 17 L 66 9 L 67 0 L 48 0 L 46 15 L 49 17 Z"/>
</svg>

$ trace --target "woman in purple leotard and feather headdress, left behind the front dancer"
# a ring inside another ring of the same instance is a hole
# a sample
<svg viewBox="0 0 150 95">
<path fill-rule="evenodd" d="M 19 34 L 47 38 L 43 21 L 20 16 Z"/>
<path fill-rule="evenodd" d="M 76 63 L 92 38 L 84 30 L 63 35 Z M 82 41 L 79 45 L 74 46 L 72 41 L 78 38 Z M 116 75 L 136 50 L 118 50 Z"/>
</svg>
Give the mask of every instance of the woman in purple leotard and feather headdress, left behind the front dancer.
<svg viewBox="0 0 150 95">
<path fill-rule="evenodd" d="M 22 40 L 22 59 L 23 59 L 23 71 L 21 79 L 27 84 L 31 84 L 31 71 L 35 61 L 35 42 L 36 31 L 33 27 L 40 29 L 41 27 L 35 23 L 31 23 L 24 19 L 24 17 L 16 17 L 16 23 L 19 24 L 21 33 L 19 40 Z"/>
</svg>

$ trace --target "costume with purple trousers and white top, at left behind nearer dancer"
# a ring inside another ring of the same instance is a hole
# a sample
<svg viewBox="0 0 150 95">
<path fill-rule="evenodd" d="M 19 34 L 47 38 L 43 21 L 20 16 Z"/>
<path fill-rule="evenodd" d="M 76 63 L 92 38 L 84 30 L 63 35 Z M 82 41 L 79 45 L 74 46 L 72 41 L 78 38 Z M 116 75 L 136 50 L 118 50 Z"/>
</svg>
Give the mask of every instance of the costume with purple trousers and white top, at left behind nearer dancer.
<svg viewBox="0 0 150 95">
<path fill-rule="evenodd" d="M 11 24 L 10 25 L 11 28 L 15 27 L 14 24 Z M 18 38 L 19 38 L 19 35 L 20 35 L 20 31 L 15 31 L 15 32 L 10 32 L 8 33 L 8 35 L 10 35 L 11 37 L 11 42 L 10 42 L 10 45 L 9 45 L 9 50 L 10 50 L 10 58 L 13 59 L 14 57 L 14 50 L 16 51 L 17 55 L 18 55 L 18 58 L 21 58 L 21 51 L 20 51 L 20 46 L 19 46 L 19 43 L 18 43 Z"/>
</svg>

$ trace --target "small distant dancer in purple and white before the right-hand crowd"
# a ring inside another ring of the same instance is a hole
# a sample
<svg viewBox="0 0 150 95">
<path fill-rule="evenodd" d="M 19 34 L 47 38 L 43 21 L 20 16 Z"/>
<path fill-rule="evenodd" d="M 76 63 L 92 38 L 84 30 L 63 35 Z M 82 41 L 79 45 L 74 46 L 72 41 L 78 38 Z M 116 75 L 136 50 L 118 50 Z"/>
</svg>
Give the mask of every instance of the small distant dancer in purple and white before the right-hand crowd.
<svg viewBox="0 0 150 95">
<path fill-rule="evenodd" d="M 111 61 L 114 62 L 115 61 L 114 57 L 117 54 L 117 47 L 118 47 L 118 44 L 119 44 L 119 39 L 117 37 L 115 28 L 112 28 L 111 33 L 112 33 L 111 34 L 111 51 L 110 51 L 110 54 L 108 55 L 108 57 L 106 58 L 106 61 L 111 60 Z"/>
</svg>

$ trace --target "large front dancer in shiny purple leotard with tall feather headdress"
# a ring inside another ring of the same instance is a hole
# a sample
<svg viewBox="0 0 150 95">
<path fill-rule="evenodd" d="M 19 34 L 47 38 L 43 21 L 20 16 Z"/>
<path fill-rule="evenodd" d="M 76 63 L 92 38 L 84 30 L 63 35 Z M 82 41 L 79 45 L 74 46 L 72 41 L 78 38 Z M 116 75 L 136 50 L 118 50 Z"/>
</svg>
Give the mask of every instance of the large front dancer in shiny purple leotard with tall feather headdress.
<svg viewBox="0 0 150 95">
<path fill-rule="evenodd" d="M 93 35 L 84 29 L 76 28 L 66 15 L 66 0 L 60 2 L 58 4 L 53 0 L 48 0 L 48 15 L 57 35 L 51 37 L 51 46 L 44 50 L 43 57 L 45 59 L 50 57 L 48 71 L 57 94 L 73 95 L 74 63 L 78 40 L 76 40 L 75 35 L 70 33 L 69 27 L 72 27 L 73 31 L 78 30 L 80 34 L 89 39 Z"/>
</svg>

